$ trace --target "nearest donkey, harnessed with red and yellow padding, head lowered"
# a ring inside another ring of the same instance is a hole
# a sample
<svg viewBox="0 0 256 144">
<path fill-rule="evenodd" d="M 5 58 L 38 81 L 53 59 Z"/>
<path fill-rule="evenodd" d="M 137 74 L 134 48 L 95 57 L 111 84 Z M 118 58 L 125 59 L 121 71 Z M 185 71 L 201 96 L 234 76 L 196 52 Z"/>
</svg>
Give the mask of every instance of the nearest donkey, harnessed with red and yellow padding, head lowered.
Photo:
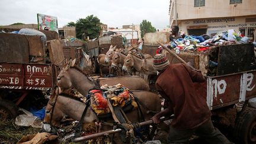
<svg viewBox="0 0 256 144">
<path fill-rule="evenodd" d="M 148 92 L 148 91 L 133 91 L 133 94 L 140 101 L 141 111 L 145 120 L 149 120 L 153 114 L 148 113 L 149 111 L 161 111 L 161 101 L 158 95 Z M 83 111 L 85 110 L 86 105 L 81 103 L 79 100 L 75 100 L 69 95 L 59 95 L 58 92 L 54 95 L 51 95 L 50 100 L 46 106 L 46 116 L 44 117 L 44 130 L 46 132 L 54 132 L 53 127 L 57 127 L 62 120 L 63 116 L 69 116 L 74 120 L 81 120 L 81 116 Z M 132 110 L 129 113 L 126 113 L 129 121 L 133 123 L 139 122 L 138 110 Z M 87 108 L 85 112 L 85 116 L 82 119 L 82 123 L 92 124 L 95 120 L 97 120 L 97 116 L 92 111 L 91 108 Z M 107 123 L 113 123 L 114 120 L 112 118 L 106 121 Z M 105 125 L 103 123 L 103 127 L 101 130 L 111 130 L 112 126 Z M 55 130 L 55 129 L 54 129 Z M 117 135 L 115 135 L 117 136 Z M 116 143 L 121 143 L 120 138 L 114 139 Z"/>
</svg>

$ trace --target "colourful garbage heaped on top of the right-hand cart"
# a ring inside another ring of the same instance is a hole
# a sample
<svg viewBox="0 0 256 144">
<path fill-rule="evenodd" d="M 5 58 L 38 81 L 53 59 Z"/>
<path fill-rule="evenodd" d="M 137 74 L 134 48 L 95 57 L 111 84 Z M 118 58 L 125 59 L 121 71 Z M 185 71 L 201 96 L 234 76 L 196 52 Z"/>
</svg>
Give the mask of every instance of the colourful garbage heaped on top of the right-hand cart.
<svg viewBox="0 0 256 144">
<path fill-rule="evenodd" d="M 248 37 L 242 37 L 241 33 L 236 33 L 235 30 L 228 30 L 213 37 L 210 34 L 204 34 L 202 36 L 185 36 L 177 40 L 170 37 L 170 40 L 168 47 L 174 49 L 176 53 L 185 51 L 206 52 L 212 46 L 249 43 Z M 159 50 L 161 49 L 162 47 L 160 46 Z"/>
</svg>

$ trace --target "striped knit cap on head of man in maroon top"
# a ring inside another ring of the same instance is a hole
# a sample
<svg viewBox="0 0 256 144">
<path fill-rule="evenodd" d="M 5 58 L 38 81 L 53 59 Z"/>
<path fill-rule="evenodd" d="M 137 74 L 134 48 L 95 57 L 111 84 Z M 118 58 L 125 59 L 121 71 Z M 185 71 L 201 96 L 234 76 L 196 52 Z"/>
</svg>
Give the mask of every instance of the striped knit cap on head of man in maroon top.
<svg viewBox="0 0 256 144">
<path fill-rule="evenodd" d="M 163 69 L 166 69 L 167 66 L 169 65 L 169 60 L 167 58 L 167 56 L 165 56 L 164 54 L 156 54 L 153 57 L 153 68 L 156 71 L 162 71 Z"/>
</svg>

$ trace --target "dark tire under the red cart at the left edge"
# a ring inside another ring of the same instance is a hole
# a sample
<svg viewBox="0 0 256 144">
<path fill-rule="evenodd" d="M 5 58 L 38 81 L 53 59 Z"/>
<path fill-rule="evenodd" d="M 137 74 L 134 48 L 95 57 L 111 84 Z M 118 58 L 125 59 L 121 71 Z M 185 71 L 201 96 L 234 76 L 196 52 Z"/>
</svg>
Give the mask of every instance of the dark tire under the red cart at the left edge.
<svg viewBox="0 0 256 144">
<path fill-rule="evenodd" d="M 8 100 L 1 100 L 0 101 L 0 110 L 5 110 L 7 115 L 7 119 L 15 119 L 18 113 L 18 107 L 14 103 Z M 0 123 L 6 121 L 7 119 L 1 119 Z"/>
</svg>

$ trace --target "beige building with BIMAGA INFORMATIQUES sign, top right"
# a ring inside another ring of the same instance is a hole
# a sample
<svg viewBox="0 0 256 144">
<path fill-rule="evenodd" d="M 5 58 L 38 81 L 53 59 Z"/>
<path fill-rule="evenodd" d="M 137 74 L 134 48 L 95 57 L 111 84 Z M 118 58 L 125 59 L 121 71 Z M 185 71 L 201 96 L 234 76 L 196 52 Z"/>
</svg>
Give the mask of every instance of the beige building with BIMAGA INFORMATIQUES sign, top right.
<svg viewBox="0 0 256 144">
<path fill-rule="evenodd" d="M 176 9 L 177 8 L 177 9 Z M 215 34 L 229 29 L 252 39 L 256 28 L 255 0 L 171 0 L 170 26 L 187 34 Z"/>
</svg>

